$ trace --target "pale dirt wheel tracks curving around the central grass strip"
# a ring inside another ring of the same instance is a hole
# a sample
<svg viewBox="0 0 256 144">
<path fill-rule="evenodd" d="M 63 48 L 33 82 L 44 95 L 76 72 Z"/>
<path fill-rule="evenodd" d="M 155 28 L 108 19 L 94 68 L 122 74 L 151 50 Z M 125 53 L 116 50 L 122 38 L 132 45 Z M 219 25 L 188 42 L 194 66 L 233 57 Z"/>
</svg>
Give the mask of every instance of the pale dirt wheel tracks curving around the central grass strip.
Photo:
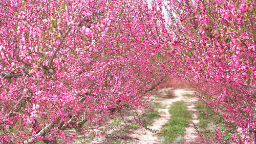
<svg viewBox="0 0 256 144">
<path fill-rule="evenodd" d="M 170 114 L 168 112 L 170 105 L 172 105 L 173 102 L 181 101 L 183 100 L 185 104 L 188 106 L 188 110 L 191 111 L 192 114 L 192 122 L 197 124 L 198 120 L 197 115 L 195 111 L 195 104 L 197 102 L 197 99 L 193 97 L 194 91 L 185 91 L 184 89 L 177 89 L 173 90 L 171 88 L 163 89 L 159 92 L 159 96 L 161 99 L 156 99 L 155 102 L 159 103 L 161 105 L 166 105 L 165 108 L 160 108 L 158 111 L 162 114 L 160 114 L 160 118 L 155 120 L 153 122 L 153 126 L 150 127 L 155 130 L 160 130 L 161 127 L 168 122 L 170 119 Z M 197 139 L 197 132 L 193 127 L 193 123 L 190 123 L 189 126 L 186 128 L 184 141 L 185 143 L 191 143 L 195 142 Z M 161 143 L 164 139 L 159 139 L 156 134 L 144 130 L 144 129 L 138 129 L 135 130 L 134 133 L 131 135 L 131 137 L 137 139 L 133 143 Z"/>
</svg>

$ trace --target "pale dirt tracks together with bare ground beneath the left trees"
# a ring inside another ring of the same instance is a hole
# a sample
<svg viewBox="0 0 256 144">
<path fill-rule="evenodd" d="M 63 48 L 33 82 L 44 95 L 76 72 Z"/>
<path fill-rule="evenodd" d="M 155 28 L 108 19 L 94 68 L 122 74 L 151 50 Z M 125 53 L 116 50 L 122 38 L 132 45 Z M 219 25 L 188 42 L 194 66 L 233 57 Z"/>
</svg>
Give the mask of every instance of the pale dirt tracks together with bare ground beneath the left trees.
<svg viewBox="0 0 256 144">
<path fill-rule="evenodd" d="M 187 91 L 185 89 L 176 89 L 166 88 L 157 92 L 154 103 L 161 106 L 158 109 L 160 113 L 159 119 L 155 119 L 152 122 L 151 129 L 160 130 L 161 127 L 168 122 L 168 120 L 172 117 L 169 114 L 170 106 L 176 102 L 183 100 L 187 105 L 188 110 L 192 114 L 192 121 L 189 126 L 185 129 L 185 135 L 178 136 L 179 143 L 197 143 L 197 132 L 193 127 L 193 123 L 197 124 L 197 110 L 195 109 L 195 105 L 197 102 L 197 98 L 193 96 L 194 91 Z M 142 116 L 143 113 L 141 111 Z M 145 118 L 146 116 L 144 116 Z M 143 118 L 143 117 L 142 117 Z M 75 143 L 85 142 L 82 138 L 88 138 L 89 141 L 86 143 L 163 143 L 164 138 L 158 137 L 156 134 L 142 129 L 142 128 L 132 128 L 136 126 L 132 124 L 133 116 L 125 116 L 123 120 L 111 120 L 99 127 L 95 132 L 105 131 L 104 137 L 91 137 L 90 134 L 81 135 L 82 137 L 78 138 Z M 192 123 L 193 122 L 193 123 Z M 129 125 L 127 127 L 127 125 Z M 74 133 L 74 132 L 73 132 Z M 81 141 L 81 142 L 80 142 Z"/>
</svg>

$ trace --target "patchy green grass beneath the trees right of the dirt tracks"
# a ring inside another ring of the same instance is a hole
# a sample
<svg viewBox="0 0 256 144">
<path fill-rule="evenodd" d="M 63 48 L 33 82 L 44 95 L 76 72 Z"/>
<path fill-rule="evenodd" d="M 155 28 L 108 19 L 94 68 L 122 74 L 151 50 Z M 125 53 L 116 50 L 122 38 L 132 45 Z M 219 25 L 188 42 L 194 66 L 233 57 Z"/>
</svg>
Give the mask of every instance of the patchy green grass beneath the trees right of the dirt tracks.
<svg viewBox="0 0 256 144">
<path fill-rule="evenodd" d="M 196 105 L 196 109 L 200 111 L 207 112 L 208 117 L 206 117 L 206 114 L 203 112 L 198 113 L 198 120 L 200 122 L 197 124 L 199 127 L 200 133 L 204 134 L 207 137 L 213 137 L 216 133 L 215 129 L 218 127 L 221 131 L 225 131 L 226 135 L 223 135 L 224 139 L 229 139 L 229 130 L 227 129 L 226 125 L 223 125 L 219 122 L 216 122 L 216 120 L 219 120 L 220 122 L 224 122 L 224 118 L 221 116 L 221 113 L 214 114 L 212 113 L 212 109 L 201 102 L 198 102 Z M 212 118 L 214 120 L 212 120 Z M 210 125 L 211 124 L 211 125 Z"/>
</svg>

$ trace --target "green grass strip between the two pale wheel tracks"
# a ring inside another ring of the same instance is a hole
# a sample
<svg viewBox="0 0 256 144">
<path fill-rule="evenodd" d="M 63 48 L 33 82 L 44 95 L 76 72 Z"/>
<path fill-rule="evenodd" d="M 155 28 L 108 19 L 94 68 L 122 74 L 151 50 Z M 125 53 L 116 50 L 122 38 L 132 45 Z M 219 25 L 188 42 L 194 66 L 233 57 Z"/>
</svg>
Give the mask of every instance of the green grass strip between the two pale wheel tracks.
<svg viewBox="0 0 256 144">
<path fill-rule="evenodd" d="M 177 101 L 171 105 L 169 113 L 172 115 L 160 132 L 167 142 L 173 142 L 179 135 L 184 135 L 185 128 L 191 120 L 191 115 L 187 110 L 184 101 Z"/>
</svg>

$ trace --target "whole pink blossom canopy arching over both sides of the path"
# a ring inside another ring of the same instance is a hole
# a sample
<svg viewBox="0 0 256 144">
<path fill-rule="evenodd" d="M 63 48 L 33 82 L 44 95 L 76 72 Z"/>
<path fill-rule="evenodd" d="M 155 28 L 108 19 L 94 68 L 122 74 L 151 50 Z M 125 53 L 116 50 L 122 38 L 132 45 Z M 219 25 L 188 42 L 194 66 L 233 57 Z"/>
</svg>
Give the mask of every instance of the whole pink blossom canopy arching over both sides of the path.
<svg viewBox="0 0 256 144">
<path fill-rule="evenodd" d="M 253 1 L 0 2 L 1 142 L 72 139 L 65 129 L 145 107 L 167 74 L 242 128 L 231 141 L 252 140 Z"/>
</svg>

